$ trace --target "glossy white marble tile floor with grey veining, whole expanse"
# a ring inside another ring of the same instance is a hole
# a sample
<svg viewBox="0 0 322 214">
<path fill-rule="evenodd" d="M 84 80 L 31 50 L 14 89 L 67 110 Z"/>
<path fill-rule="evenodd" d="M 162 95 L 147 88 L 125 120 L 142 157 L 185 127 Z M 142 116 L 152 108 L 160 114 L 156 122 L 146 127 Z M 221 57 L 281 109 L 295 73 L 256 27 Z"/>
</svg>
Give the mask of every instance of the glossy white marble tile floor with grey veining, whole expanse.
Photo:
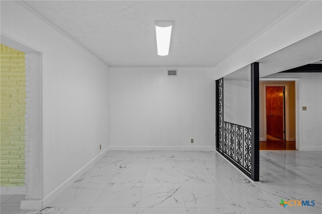
<svg viewBox="0 0 322 214">
<path fill-rule="evenodd" d="M 23 196 L 1 195 L 1 213 L 322 212 L 322 152 L 260 158 L 261 183 L 252 183 L 214 151 L 110 151 L 44 210 L 19 210 Z M 315 205 L 283 208 L 281 199 Z"/>
</svg>

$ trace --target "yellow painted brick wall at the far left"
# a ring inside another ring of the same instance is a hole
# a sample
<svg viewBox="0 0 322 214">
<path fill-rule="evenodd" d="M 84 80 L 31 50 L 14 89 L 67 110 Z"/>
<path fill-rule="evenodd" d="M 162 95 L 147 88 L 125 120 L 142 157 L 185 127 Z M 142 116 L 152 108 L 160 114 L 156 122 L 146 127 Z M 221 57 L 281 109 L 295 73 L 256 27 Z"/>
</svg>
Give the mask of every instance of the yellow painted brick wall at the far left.
<svg viewBox="0 0 322 214">
<path fill-rule="evenodd" d="M 25 53 L 1 44 L 1 186 L 25 185 Z"/>
</svg>

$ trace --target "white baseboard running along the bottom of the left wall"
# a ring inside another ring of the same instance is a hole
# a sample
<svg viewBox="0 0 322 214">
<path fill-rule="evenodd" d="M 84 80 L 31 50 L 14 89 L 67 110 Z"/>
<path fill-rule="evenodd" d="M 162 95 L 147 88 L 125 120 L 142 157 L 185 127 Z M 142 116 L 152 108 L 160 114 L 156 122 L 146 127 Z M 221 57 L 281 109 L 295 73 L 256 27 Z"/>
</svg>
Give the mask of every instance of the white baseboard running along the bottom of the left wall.
<svg viewBox="0 0 322 214">
<path fill-rule="evenodd" d="M 63 182 L 60 186 L 50 192 L 45 196 L 43 200 L 23 200 L 21 201 L 21 209 L 27 210 L 39 210 L 39 206 L 41 206 L 40 210 L 44 207 L 47 207 L 49 203 L 51 203 L 57 196 L 59 196 L 66 188 L 68 188 L 77 178 L 82 176 L 87 170 L 89 170 L 95 163 L 97 163 L 108 151 L 110 151 L 110 147 L 101 152 L 98 156 L 93 158 L 88 164 L 83 166 L 77 172 L 75 172 L 72 176 L 70 176 L 65 182 Z"/>
</svg>

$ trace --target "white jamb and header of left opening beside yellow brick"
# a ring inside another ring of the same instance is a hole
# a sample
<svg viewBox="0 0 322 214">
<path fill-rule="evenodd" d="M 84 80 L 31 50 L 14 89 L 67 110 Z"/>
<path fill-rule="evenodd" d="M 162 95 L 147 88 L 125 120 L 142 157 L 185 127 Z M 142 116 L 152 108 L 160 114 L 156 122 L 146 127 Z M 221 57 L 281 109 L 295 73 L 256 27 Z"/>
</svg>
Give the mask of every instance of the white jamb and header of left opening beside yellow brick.
<svg viewBox="0 0 322 214">
<path fill-rule="evenodd" d="M 20 194 L 25 194 L 21 209 L 43 209 L 43 51 L 1 33 L 1 43 L 25 52 L 26 58 L 26 101 L 25 117 L 25 186 Z M 11 190 L 9 190 L 11 191 Z M 10 194 L 10 192 L 8 192 Z"/>
</svg>

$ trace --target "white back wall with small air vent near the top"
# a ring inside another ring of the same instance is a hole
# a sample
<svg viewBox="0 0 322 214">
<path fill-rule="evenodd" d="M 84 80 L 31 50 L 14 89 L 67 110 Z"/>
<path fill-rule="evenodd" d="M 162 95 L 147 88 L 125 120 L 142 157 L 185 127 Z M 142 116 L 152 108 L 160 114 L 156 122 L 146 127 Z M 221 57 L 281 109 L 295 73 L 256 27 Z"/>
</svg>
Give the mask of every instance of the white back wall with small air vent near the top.
<svg viewBox="0 0 322 214">
<path fill-rule="evenodd" d="M 174 77 L 167 68 L 111 67 L 111 148 L 214 149 L 212 74 L 213 68 L 179 67 Z"/>
</svg>

